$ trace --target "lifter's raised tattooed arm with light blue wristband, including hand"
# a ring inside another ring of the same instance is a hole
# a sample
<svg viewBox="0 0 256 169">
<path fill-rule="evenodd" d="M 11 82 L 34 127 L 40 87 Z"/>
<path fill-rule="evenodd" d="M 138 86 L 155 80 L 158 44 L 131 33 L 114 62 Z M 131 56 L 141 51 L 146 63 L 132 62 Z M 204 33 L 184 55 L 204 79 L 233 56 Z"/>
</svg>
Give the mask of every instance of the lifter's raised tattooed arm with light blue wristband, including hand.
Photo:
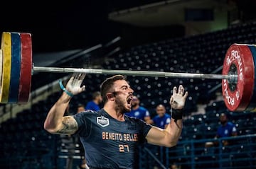
<svg viewBox="0 0 256 169">
<path fill-rule="evenodd" d="M 78 130 L 78 122 L 75 121 L 74 117 L 64 116 L 64 113 L 73 95 L 85 91 L 85 86 L 81 86 L 84 78 L 85 74 L 73 74 L 66 88 L 60 83 L 64 92 L 48 112 L 44 122 L 46 131 L 52 134 L 74 134 Z"/>
</svg>

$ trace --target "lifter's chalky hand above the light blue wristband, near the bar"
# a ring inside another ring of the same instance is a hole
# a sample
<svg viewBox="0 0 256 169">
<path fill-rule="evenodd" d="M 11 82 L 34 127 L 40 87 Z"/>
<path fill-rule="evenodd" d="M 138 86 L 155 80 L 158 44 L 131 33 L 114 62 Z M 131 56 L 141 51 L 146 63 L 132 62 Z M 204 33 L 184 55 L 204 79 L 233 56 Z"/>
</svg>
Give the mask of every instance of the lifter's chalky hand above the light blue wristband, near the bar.
<svg viewBox="0 0 256 169">
<path fill-rule="evenodd" d="M 66 90 L 73 95 L 77 95 L 78 93 L 85 91 L 85 86 L 81 86 L 82 81 L 85 79 L 85 75 L 86 74 L 79 73 L 73 74 L 66 85 Z"/>
</svg>

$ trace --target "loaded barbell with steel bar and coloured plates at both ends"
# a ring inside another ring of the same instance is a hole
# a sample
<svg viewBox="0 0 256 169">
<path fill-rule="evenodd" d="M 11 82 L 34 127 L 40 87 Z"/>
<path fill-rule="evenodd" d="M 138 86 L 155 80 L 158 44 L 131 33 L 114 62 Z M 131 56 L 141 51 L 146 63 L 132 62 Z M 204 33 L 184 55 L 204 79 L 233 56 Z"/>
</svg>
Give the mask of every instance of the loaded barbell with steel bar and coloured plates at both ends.
<svg viewBox="0 0 256 169">
<path fill-rule="evenodd" d="M 31 92 L 31 76 L 37 71 L 221 79 L 228 110 L 256 111 L 255 59 L 255 45 L 234 43 L 225 54 L 222 74 L 34 66 L 31 33 L 3 32 L 0 49 L 0 103 L 27 103 Z"/>
</svg>

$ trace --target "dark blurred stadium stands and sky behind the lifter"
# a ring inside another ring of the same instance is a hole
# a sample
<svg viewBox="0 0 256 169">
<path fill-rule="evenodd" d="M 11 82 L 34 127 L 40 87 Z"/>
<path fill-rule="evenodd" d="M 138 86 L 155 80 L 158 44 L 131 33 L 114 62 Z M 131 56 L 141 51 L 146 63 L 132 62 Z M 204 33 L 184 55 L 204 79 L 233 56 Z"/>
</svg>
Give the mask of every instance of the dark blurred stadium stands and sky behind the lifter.
<svg viewBox="0 0 256 169">
<path fill-rule="evenodd" d="M 45 0 L 4 1 L 1 6 L 1 32 L 31 33 L 35 66 L 221 74 L 230 45 L 256 41 L 254 0 Z M 48 110 L 62 93 L 58 80 L 69 76 L 35 72 L 27 104 L 0 105 L 0 168 L 79 168 L 80 144 L 43 129 Z M 91 100 L 106 77 L 88 74 L 86 92 L 73 98 L 67 113 L 74 115 L 78 103 Z M 157 152 L 145 147 L 140 168 L 256 167 L 255 112 L 230 112 L 220 80 L 128 80 L 151 118 L 160 103 L 169 112 L 174 85 L 183 84 L 189 92 L 180 142 Z M 237 136 L 214 139 L 223 112 Z M 225 146 L 224 140 L 235 144 Z M 218 146 L 206 144 L 213 142 Z"/>
</svg>

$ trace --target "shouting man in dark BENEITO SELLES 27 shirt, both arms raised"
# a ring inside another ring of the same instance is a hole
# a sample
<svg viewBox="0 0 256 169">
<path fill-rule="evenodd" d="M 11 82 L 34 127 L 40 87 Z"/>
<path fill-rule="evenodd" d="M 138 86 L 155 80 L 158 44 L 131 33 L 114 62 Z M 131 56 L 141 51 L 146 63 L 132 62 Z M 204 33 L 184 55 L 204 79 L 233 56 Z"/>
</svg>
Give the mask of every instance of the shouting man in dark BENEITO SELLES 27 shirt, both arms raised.
<svg viewBox="0 0 256 169">
<path fill-rule="evenodd" d="M 104 107 L 73 116 L 63 116 L 73 95 L 85 91 L 85 74 L 74 74 L 63 94 L 51 107 L 44 128 L 52 134 L 78 134 L 85 147 L 87 164 L 93 168 L 138 168 L 137 146 L 149 144 L 176 146 L 182 131 L 182 109 L 188 92 L 174 86 L 170 98 L 172 120 L 166 129 L 153 127 L 142 120 L 127 117 L 134 91 L 122 75 L 107 78 L 100 86 Z"/>
</svg>

